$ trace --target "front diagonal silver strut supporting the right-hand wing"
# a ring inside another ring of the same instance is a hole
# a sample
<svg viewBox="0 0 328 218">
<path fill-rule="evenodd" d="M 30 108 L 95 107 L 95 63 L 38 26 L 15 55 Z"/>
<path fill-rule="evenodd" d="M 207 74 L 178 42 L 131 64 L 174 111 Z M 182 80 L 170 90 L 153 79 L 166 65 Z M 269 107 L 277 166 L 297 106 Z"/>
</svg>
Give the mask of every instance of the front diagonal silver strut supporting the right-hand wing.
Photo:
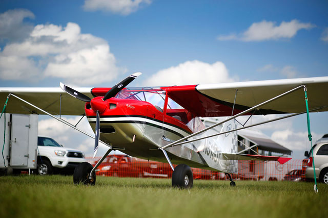
<svg viewBox="0 0 328 218">
<path fill-rule="evenodd" d="M 175 145 L 176 145 L 177 143 L 179 143 L 179 142 L 185 141 L 185 140 L 188 139 L 188 138 L 191 138 L 191 137 L 193 137 L 193 136 L 195 136 L 195 135 L 198 135 L 198 134 L 203 133 L 203 132 L 205 132 L 205 131 L 207 131 L 207 130 L 209 130 L 209 129 L 212 129 L 212 128 L 218 126 L 218 125 L 221 125 L 221 124 L 223 124 L 223 123 L 226 123 L 226 122 L 228 122 L 229 120 L 234 119 L 234 118 L 236 118 L 236 117 L 238 117 L 238 116 L 241 116 L 241 115 L 243 115 L 243 114 L 245 114 L 245 113 L 248 113 L 248 112 L 250 112 L 250 111 L 252 111 L 252 110 L 256 110 L 257 108 L 259 108 L 259 107 L 261 107 L 261 106 L 263 106 L 263 105 L 266 105 L 266 104 L 268 104 L 268 103 L 270 103 L 270 102 L 273 102 L 273 101 L 275 101 L 275 100 L 281 98 L 282 96 L 287 95 L 287 94 L 290 94 L 290 93 L 292 93 L 292 92 L 294 92 L 294 91 L 296 91 L 296 90 L 298 90 L 298 89 L 300 89 L 300 88 L 303 88 L 303 85 L 297 86 L 296 88 L 293 88 L 293 89 L 291 89 L 291 90 L 289 90 L 289 91 L 286 91 L 286 92 L 284 92 L 284 93 L 282 93 L 282 94 L 279 94 L 279 95 L 275 96 L 275 97 L 272 98 L 272 99 L 269 99 L 269 100 L 267 100 L 267 101 L 265 101 L 265 102 L 262 102 L 262 103 L 260 103 L 260 104 L 258 104 L 258 105 L 256 105 L 256 106 L 254 106 L 254 107 L 252 107 L 252 108 L 249 108 L 249 109 L 244 110 L 244 111 L 242 111 L 242 112 L 240 112 L 240 113 L 238 113 L 238 114 L 236 114 L 236 115 L 234 115 L 234 116 L 231 116 L 230 118 L 228 118 L 228 119 L 226 119 L 226 120 L 224 120 L 224 121 L 222 121 L 222 122 L 219 122 L 219 123 L 217 123 L 217 124 L 214 124 L 214 125 L 212 125 L 212 126 L 210 126 L 210 127 L 205 128 L 205 129 L 203 129 L 203 130 L 200 130 L 200 131 L 198 131 L 198 132 L 195 132 L 195 133 L 193 133 L 193 134 L 191 134 L 191 135 L 189 135 L 189 136 L 186 136 L 186 137 L 184 137 L 184 138 L 181 138 L 181 139 L 179 139 L 179 140 L 177 140 L 177 141 L 175 141 L 175 142 L 172 142 L 172 143 L 170 143 L 170 144 L 167 144 L 166 146 L 162 147 L 162 149 L 166 149 L 166 148 L 169 148 L 169 147 L 175 146 Z"/>
</svg>

